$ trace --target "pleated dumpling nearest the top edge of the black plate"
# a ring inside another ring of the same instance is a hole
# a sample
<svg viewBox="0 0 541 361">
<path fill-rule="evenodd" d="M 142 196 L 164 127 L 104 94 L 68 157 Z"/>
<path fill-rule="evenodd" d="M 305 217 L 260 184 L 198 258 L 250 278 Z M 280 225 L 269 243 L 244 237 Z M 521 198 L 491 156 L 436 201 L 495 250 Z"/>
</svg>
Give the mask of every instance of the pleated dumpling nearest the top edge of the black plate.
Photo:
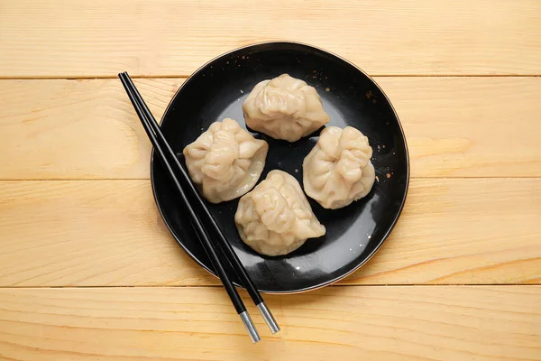
<svg viewBox="0 0 541 361">
<path fill-rule="evenodd" d="M 253 130 L 289 142 L 329 122 L 316 88 L 288 74 L 257 84 L 244 101 L 243 112 Z"/>
</svg>

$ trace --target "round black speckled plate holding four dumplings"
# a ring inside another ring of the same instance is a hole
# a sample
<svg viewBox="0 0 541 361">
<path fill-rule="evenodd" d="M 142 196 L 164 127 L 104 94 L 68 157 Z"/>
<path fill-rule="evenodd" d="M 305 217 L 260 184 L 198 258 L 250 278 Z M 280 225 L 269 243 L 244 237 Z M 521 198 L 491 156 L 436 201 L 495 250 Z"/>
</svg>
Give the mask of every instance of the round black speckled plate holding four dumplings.
<svg viewBox="0 0 541 361">
<path fill-rule="evenodd" d="M 399 218 L 408 191 L 408 148 L 399 118 L 381 88 L 361 69 L 329 52 L 293 42 L 266 42 L 238 49 L 198 69 L 170 102 L 161 122 L 175 153 L 196 140 L 215 121 L 231 117 L 244 126 L 242 104 L 253 86 L 282 73 L 316 87 L 331 116 L 329 125 L 352 125 L 370 139 L 378 179 L 371 193 L 352 205 L 327 210 L 310 199 L 326 236 L 309 239 L 297 251 L 261 256 L 244 245 L 234 226 L 238 199 L 209 205 L 261 292 L 303 292 L 353 273 L 381 246 Z M 302 186 L 302 161 L 317 136 L 296 143 L 269 142 L 263 180 L 273 169 L 287 171 Z M 214 273 L 199 245 L 179 196 L 152 154 L 151 180 L 161 216 L 188 255 Z M 238 284 L 236 276 L 228 270 Z"/>
</svg>

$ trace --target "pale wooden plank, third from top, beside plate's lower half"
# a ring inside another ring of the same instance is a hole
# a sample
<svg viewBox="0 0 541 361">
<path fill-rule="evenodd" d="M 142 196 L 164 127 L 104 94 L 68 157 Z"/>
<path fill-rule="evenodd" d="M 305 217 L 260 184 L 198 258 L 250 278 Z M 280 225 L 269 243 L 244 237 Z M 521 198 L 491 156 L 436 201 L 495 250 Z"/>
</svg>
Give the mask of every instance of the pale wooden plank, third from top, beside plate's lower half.
<svg viewBox="0 0 541 361">
<path fill-rule="evenodd" d="M 343 284 L 539 283 L 540 215 L 541 179 L 412 180 L 390 239 Z M 0 286 L 219 284 L 148 180 L 0 182 L 0 249 Z"/>
</svg>

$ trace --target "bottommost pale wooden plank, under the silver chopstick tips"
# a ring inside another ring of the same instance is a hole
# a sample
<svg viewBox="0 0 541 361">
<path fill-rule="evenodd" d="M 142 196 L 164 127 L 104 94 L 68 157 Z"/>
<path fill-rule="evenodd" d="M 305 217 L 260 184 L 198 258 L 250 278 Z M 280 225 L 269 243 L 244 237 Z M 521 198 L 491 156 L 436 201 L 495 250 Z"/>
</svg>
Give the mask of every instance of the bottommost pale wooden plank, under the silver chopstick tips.
<svg viewBox="0 0 541 361">
<path fill-rule="evenodd" d="M 267 297 L 252 345 L 213 288 L 1 289 L 6 360 L 541 360 L 541 287 L 329 287 Z M 194 301 L 197 300 L 197 301 Z M 246 304 L 249 299 L 244 298 Z"/>
</svg>

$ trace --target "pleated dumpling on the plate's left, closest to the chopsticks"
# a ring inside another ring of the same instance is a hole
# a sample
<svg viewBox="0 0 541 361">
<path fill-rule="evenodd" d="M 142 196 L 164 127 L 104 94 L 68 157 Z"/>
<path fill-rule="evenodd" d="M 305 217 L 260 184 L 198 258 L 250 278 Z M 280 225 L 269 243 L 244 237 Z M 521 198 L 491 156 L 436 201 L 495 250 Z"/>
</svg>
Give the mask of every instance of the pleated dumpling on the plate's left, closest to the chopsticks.
<svg viewBox="0 0 541 361">
<path fill-rule="evenodd" d="M 255 185 L 269 144 L 230 118 L 215 122 L 184 148 L 189 176 L 211 203 L 235 199 Z"/>
</svg>

